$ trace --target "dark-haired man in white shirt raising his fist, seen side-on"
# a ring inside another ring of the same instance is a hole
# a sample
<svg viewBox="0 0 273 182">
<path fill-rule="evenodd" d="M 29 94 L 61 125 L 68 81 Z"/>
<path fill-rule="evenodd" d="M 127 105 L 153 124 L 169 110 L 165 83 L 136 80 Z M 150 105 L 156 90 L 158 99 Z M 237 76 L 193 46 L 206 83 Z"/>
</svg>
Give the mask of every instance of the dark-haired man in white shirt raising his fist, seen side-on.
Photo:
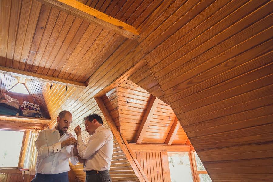
<svg viewBox="0 0 273 182">
<path fill-rule="evenodd" d="M 104 128 L 98 114 L 89 114 L 83 121 L 85 130 L 92 135 L 87 145 L 83 143 L 80 126 L 77 126 L 74 131 L 78 136 L 79 162 L 83 163 L 83 171 L 86 172 L 85 181 L 111 182 L 109 169 L 113 154 L 112 132 Z"/>
</svg>

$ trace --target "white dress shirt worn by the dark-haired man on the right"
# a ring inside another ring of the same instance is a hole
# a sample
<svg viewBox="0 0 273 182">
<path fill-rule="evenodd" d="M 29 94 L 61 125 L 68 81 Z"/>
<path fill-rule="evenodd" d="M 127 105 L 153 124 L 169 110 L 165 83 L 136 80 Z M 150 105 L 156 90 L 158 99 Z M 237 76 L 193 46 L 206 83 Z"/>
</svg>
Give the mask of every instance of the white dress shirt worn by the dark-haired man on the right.
<svg viewBox="0 0 273 182">
<path fill-rule="evenodd" d="M 112 132 L 104 126 L 99 126 L 86 145 L 82 136 L 78 136 L 77 149 L 79 156 L 85 159 L 83 171 L 109 170 L 113 154 Z"/>
</svg>

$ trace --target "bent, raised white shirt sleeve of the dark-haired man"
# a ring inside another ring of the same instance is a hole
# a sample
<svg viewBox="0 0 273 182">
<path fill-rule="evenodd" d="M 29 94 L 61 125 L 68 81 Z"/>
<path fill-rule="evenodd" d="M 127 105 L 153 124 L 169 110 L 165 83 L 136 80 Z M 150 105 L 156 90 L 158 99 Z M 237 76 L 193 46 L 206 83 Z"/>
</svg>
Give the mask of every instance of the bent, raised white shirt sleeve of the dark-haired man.
<svg viewBox="0 0 273 182">
<path fill-rule="evenodd" d="M 96 136 L 91 136 L 87 145 L 85 145 L 83 143 L 82 136 L 78 136 L 77 149 L 79 152 L 79 156 L 82 159 L 88 159 L 106 143 L 106 139 L 107 137 L 105 133 L 99 131 L 96 133 Z"/>
</svg>

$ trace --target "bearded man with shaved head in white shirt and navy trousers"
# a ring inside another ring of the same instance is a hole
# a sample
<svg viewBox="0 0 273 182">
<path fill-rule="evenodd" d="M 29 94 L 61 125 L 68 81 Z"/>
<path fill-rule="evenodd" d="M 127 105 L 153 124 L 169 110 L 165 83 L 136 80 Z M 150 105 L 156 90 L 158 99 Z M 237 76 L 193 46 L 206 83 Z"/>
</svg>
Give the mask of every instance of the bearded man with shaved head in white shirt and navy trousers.
<svg viewBox="0 0 273 182">
<path fill-rule="evenodd" d="M 77 140 L 67 130 L 72 122 L 72 114 L 62 111 L 57 117 L 57 124 L 52 129 L 42 130 L 35 141 L 38 152 L 36 175 L 32 182 L 68 182 L 72 164 L 78 163 Z M 75 155 L 74 155 L 75 154 Z"/>
</svg>

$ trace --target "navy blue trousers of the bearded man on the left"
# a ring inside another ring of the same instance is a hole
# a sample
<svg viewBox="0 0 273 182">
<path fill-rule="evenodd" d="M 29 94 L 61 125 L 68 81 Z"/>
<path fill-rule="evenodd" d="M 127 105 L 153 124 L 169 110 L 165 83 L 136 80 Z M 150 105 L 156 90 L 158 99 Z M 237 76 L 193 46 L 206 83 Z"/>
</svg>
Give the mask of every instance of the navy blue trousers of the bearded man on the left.
<svg viewBox="0 0 273 182">
<path fill-rule="evenodd" d="M 69 182 L 68 172 L 59 174 L 41 174 L 36 173 L 31 182 Z"/>
</svg>

